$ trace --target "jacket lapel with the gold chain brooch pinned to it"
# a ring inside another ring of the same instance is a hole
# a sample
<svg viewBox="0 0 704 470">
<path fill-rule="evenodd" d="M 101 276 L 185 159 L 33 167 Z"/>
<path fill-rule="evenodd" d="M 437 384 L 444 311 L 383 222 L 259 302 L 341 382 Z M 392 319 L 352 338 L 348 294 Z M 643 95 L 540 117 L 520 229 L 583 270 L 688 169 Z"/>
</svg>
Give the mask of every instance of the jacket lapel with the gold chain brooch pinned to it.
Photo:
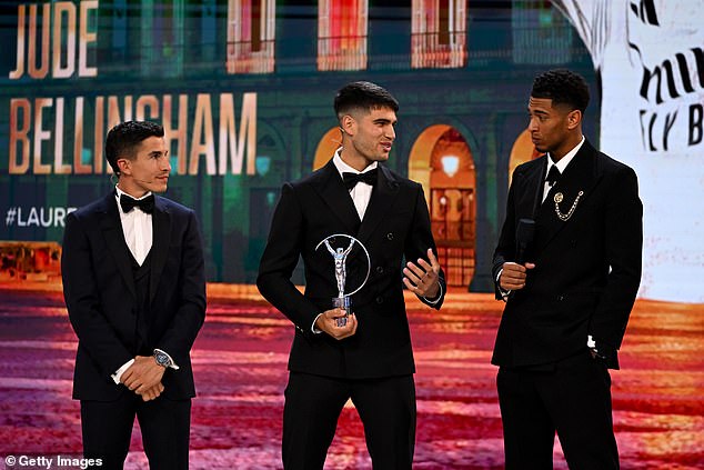
<svg viewBox="0 0 704 470">
<path fill-rule="evenodd" d="M 580 217 L 580 207 L 589 199 L 592 189 L 597 182 L 596 151 L 589 142 L 584 142 L 574 160 L 565 169 L 564 174 L 550 190 L 545 201 L 537 211 L 537 239 L 535 244 L 537 252 L 550 243 L 573 218 Z M 567 214 L 580 191 L 583 193 L 572 217 L 564 221 L 561 220 L 555 211 L 555 196 L 562 194 L 562 202 L 559 203 L 560 212 Z"/>
</svg>

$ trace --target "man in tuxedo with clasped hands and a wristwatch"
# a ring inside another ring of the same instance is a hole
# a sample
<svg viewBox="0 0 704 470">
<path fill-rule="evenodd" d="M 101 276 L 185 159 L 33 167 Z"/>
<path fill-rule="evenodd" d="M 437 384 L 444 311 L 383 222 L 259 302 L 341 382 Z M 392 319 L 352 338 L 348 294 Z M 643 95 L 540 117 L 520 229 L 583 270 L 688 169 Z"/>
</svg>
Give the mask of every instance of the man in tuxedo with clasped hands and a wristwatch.
<svg viewBox="0 0 704 470">
<path fill-rule="evenodd" d="M 168 149 L 152 122 L 108 133 L 113 191 L 67 218 L 63 297 L 78 353 L 83 453 L 121 469 L 139 419 L 151 469 L 187 469 L 190 350 L 205 317 L 205 276 L 192 210 L 167 190 Z"/>
</svg>

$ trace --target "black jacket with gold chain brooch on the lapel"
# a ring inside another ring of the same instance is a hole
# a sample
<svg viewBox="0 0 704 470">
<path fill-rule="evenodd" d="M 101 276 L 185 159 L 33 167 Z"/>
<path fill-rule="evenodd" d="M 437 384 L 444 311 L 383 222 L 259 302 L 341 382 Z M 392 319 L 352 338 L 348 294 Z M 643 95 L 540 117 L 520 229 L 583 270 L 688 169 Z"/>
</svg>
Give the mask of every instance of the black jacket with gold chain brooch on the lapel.
<svg viewBox="0 0 704 470">
<path fill-rule="evenodd" d="M 517 167 L 509 191 L 493 278 L 516 260 L 522 218 L 536 221 L 526 252 L 535 268 L 504 309 L 492 358 L 497 366 L 555 362 L 585 349 L 589 334 L 597 347 L 617 350 L 641 281 L 643 206 L 635 172 L 585 141 L 541 204 L 546 159 Z M 561 220 L 555 194 L 567 214 L 580 192 L 572 217 Z M 615 352 L 607 364 L 618 367 Z"/>
</svg>

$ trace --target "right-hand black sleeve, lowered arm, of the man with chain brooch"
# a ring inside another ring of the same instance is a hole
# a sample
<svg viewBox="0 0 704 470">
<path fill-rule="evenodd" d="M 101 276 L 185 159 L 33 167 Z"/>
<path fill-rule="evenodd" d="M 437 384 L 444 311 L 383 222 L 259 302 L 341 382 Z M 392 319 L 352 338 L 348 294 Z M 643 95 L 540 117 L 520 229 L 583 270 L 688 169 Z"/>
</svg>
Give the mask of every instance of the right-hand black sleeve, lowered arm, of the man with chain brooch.
<svg viewBox="0 0 704 470">
<path fill-rule="evenodd" d="M 618 349 L 641 283 L 643 204 L 635 172 L 624 167 L 604 208 L 604 247 L 611 271 L 592 316 L 590 334 Z"/>
</svg>

